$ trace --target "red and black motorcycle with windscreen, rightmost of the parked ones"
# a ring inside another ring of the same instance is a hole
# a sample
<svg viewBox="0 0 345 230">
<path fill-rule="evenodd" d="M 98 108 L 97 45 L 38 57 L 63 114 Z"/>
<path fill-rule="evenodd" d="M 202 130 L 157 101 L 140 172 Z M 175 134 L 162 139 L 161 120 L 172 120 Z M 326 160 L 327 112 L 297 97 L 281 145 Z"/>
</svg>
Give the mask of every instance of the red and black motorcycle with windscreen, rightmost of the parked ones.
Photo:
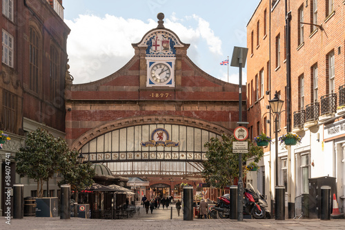
<svg viewBox="0 0 345 230">
<path fill-rule="evenodd" d="M 255 219 L 270 219 L 270 211 L 267 207 L 264 196 L 247 183 L 247 187 L 244 188 L 244 213 L 252 215 Z"/>
</svg>

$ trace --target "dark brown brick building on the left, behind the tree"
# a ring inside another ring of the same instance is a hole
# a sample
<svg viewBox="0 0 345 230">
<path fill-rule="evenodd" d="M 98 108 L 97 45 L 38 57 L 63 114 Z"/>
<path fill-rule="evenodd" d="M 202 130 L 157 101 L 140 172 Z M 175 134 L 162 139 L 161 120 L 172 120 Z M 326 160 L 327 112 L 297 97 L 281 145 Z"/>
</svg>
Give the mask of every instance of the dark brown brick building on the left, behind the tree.
<svg viewBox="0 0 345 230">
<path fill-rule="evenodd" d="M 70 29 L 63 22 L 62 1 L 2 1 L 2 65 L 0 84 L 0 130 L 11 138 L 0 149 L 3 210 L 5 154 L 14 156 L 25 133 L 43 127 L 65 136 L 63 90 L 67 63 L 66 40 Z M 11 163 L 11 185 L 19 182 Z M 37 184 L 27 182 L 24 196 L 34 196 Z M 50 194 L 57 196 L 56 178 Z M 28 184 L 28 185 L 27 185 Z M 55 186 L 53 186 L 55 185 Z M 3 215 L 0 211 L 0 215 Z"/>
</svg>

